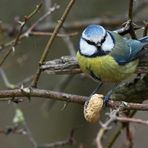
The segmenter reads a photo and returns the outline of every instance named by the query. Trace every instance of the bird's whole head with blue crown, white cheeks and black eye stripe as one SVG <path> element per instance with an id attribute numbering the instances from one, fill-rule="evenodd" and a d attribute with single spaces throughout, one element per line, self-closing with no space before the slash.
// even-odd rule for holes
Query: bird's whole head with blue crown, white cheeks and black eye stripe
<path id="1" fill-rule="evenodd" d="M 79 52 L 84 56 L 103 56 L 113 47 L 113 37 L 100 25 L 89 25 L 82 32 Z"/>

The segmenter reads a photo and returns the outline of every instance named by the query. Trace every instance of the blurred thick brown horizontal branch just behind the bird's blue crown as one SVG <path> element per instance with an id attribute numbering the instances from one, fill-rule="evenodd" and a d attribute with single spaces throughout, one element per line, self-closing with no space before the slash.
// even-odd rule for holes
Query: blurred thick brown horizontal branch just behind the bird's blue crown
<path id="1" fill-rule="evenodd" d="M 78 31 L 80 29 L 83 29 L 87 25 L 90 24 L 100 24 L 104 27 L 110 27 L 110 28 L 117 28 L 121 26 L 123 22 L 125 22 L 127 19 L 123 16 L 112 16 L 112 17 L 96 17 L 96 18 L 90 18 L 85 20 L 78 20 L 78 21 L 71 21 L 71 22 L 65 22 L 64 27 L 66 28 L 66 31 Z M 143 20 L 147 20 L 147 17 L 142 18 L 135 18 L 134 22 L 138 25 L 143 24 Z M 55 23 L 52 23 L 50 28 L 47 26 L 40 26 L 36 28 L 38 31 L 49 31 L 53 30 L 55 26 Z"/>

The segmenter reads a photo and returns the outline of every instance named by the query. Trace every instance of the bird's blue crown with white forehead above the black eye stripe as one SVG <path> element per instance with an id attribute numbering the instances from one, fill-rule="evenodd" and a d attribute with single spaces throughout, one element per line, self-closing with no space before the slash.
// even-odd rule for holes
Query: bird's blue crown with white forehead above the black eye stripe
<path id="1" fill-rule="evenodd" d="M 105 35 L 106 30 L 102 26 L 96 24 L 87 26 L 82 33 L 83 38 L 87 40 L 92 40 L 96 44 L 98 42 L 101 42 Z"/>

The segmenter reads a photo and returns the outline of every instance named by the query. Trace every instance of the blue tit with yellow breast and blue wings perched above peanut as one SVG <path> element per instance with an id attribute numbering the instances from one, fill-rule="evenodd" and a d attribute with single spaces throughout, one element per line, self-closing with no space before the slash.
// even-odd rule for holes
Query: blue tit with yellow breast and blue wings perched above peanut
<path id="1" fill-rule="evenodd" d="M 96 81 L 119 84 L 135 73 L 148 36 L 127 39 L 97 24 L 88 25 L 81 34 L 76 54 L 80 69 Z M 108 102 L 108 97 L 104 98 Z"/>

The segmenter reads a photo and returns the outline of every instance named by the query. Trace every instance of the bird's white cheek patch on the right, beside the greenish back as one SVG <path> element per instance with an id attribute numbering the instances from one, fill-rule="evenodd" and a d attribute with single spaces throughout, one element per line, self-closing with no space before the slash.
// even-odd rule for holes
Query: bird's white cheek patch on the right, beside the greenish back
<path id="1" fill-rule="evenodd" d="M 113 42 L 111 36 L 109 34 L 107 34 L 107 37 L 106 37 L 104 43 L 102 44 L 102 49 L 104 51 L 111 51 L 113 47 L 114 47 L 114 42 Z"/>

